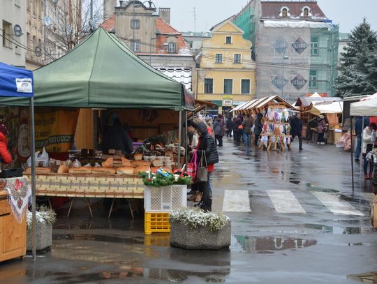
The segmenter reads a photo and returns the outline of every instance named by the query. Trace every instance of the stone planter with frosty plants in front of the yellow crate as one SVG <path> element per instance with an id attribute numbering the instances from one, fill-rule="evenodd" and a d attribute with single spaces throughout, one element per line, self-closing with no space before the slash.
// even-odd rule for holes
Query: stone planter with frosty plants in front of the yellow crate
<path id="1" fill-rule="evenodd" d="M 182 208 L 170 214 L 170 246 L 217 250 L 230 246 L 230 218 L 221 213 Z"/>

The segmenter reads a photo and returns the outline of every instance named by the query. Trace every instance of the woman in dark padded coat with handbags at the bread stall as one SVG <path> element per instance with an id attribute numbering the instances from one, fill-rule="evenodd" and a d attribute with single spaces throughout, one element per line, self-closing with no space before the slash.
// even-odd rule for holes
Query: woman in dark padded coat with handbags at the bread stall
<path id="1" fill-rule="evenodd" d="M 204 151 L 207 160 L 209 179 L 211 173 L 214 171 L 214 164 L 219 162 L 219 154 L 217 153 L 216 143 L 214 142 L 214 138 L 208 134 L 207 125 L 205 123 L 200 122 L 198 124 L 194 124 L 193 127 L 199 135 L 199 143 L 198 147 L 196 148 L 198 163 L 200 162 L 200 158 L 202 157 L 202 153 Z M 210 197 L 208 184 L 209 181 L 194 181 L 192 186 L 193 191 L 199 191 L 202 193 L 202 201 L 198 205 L 200 206 L 200 209 L 205 211 L 212 210 L 212 199 Z"/>

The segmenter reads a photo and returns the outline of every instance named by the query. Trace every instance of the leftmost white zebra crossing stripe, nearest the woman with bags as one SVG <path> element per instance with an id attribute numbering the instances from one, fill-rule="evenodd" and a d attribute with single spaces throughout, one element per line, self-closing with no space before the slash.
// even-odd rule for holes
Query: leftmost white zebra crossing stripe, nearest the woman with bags
<path id="1" fill-rule="evenodd" d="M 249 190 L 225 190 L 223 212 L 251 212 Z"/>

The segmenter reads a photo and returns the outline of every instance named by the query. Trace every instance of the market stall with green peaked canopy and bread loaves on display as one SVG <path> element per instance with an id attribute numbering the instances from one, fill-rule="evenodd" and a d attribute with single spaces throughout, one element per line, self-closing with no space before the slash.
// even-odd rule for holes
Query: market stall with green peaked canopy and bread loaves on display
<path id="1" fill-rule="evenodd" d="M 112 181 L 115 184 L 123 185 L 128 183 L 124 179 L 129 177 L 133 179 L 135 185 L 139 185 L 140 180 L 135 181 L 138 178 L 138 172 L 145 171 L 149 167 L 151 169 L 161 167 L 165 162 L 170 162 L 171 158 L 176 158 L 177 167 L 180 167 L 181 157 L 184 154 L 184 151 L 180 151 L 182 149 L 182 120 L 185 111 L 193 110 L 192 96 L 185 91 L 182 84 L 171 80 L 138 59 L 113 34 L 98 28 L 64 57 L 34 71 L 34 77 L 36 82 L 35 105 L 37 107 L 75 107 L 77 109 L 89 109 L 90 111 L 95 109 L 96 114 L 111 109 L 118 113 L 119 118 L 122 115 L 127 117 L 132 116 L 135 112 L 141 112 L 140 115 L 149 118 L 149 120 L 153 117 L 154 111 L 167 112 L 171 114 L 170 127 L 173 127 L 173 129 L 169 129 L 174 132 L 174 140 L 177 142 L 172 145 L 154 144 L 154 150 L 161 154 L 159 156 L 161 158 L 154 156 L 153 160 L 151 158 L 141 160 L 143 155 L 138 155 L 138 158 L 136 156 L 125 158 L 122 153 L 117 151 L 98 155 L 96 151 L 98 149 L 90 151 L 91 147 L 87 147 L 89 148 L 86 149 L 87 151 L 81 151 L 84 150 L 81 149 L 78 151 L 80 154 L 77 152 L 72 154 L 79 155 L 74 156 L 75 158 L 91 158 L 87 167 L 84 167 L 84 163 L 77 169 L 71 167 L 71 165 L 66 165 L 68 167 L 63 167 L 63 170 L 59 171 L 59 163 L 62 166 L 64 161 L 56 159 L 57 162 L 59 160 L 56 167 L 44 165 L 44 167 L 37 168 L 37 195 L 48 194 L 51 196 L 54 192 L 57 192 L 53 196 L 91 197 L 94 196 L 92 194 L 94 190 L 96 193 L 101 192 L 103 197 L 114 197 Z M 24 100 L 7 99 L 1 100 L 0 103 L 3 105 L 25 105 L 26 102 Z M 144 120 L 147 121 L 147 119 Z M 86 121 L 86 124 L 83 124 L 82 127 L 96 128 L 97 120 L 94 120 L 94 123 L 93 120 Z M 146 123 L 145 128 L 148 128 L 148 126 L 149 124 Z M 158 128 L 160 134 L 164 129 L 166 128 Z M 152 128 L 152 131 L 154 130 L 156 129 Z M 149 134 L 152 135 L 153 132 L 149 132 Z M 68 142 L 71 145 L 73 144 L 73 136 L 65 135 L 63 137 L 66 141 L 71 139 Z M 87 137 L 87 140 L 92 143 L 96 138 Z M 93 146 L 96 147 L 96 145 Z M 138 146 L 145 147 L 146 145 L 142 145 L 142 142 L 140 142 Z M 142 150 L 140 154 L 145 152 L 144 149 L 140 149 Z M 87 154 L 84 154 L 85 152 Z M 167 156 L 165 156 L 166 152 L 168 152 Z M 174 154 L 176 154 L 175 157 L 173 157 Z M 93 163 L 95 158 L 103 158 L 103 163 L 98 163 L 99 167 L 96 167 Z M 134 160 L 138 163 L 134 163 Z M 95 174 L 96 178 L 94 180 L 89 179 L 88 174 Z M 58 177 L 67 177 L 66 184 L 58 186 L 59 194 L 56 184 L 56 181 L 59 180 Z M 98 184 L 100 179 L 104 181 L 99 183 L 102 186 L 94 189 L 94 184 Z M 118 190 L 125 190 L 126 193 L 121 196 L 127 198 L 142 197 L 142 187 L 133 186 L 134 184 L 128 183 L 132 186 L 126 186 L 126 189 L 119 186 Z M 48 192 L 46 188 L 50 188 Z"/>

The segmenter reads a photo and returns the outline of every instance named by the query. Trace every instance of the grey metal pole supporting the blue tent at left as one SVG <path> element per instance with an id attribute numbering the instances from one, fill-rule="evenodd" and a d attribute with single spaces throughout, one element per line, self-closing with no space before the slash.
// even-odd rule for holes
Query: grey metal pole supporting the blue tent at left
<path id="1" fill-rule="evenodd" d="M 32 260 L 36 260 L 36 144 L 34 134 L 34 98 L 30 98 L 30 142 L 31 142 L 31 211 L 32 211 L 32 225 L 31 225 L 31 247 L 32 247 Z"/>

